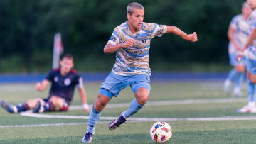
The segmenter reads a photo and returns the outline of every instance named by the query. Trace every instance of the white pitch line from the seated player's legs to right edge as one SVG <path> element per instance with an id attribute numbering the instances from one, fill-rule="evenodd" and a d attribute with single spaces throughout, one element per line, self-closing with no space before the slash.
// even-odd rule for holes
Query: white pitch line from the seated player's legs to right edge
<path id="1" fill-rule="evenodd" d="M 64 119 L 88 119 L 89 116 L 66 116 L 66 115 L 48 115 L 31 112 L 23 112 L 21 116 L 34 118 L 64 118 Z M 100 120 L 114 120 L 116 117 L 101 117 Z M 128 118 L 129 121 L 241 121 L 256 120 L 256 116 L 222 116 L 211 118 Z"/>

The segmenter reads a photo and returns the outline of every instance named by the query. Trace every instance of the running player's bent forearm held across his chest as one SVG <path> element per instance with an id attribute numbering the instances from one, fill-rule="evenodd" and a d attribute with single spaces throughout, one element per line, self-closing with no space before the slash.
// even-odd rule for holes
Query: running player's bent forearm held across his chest
<path id="1" fill-rule="evenodd" d="M 107 45 L 105 45 L 103 51 L 104 51 L 104 53 L 114 53 L 117 50 L 119 50 L 120 48 L 132 47 L 134 45 L 134 43 L 135 43 L 134 39 L 128 39 L 124 43 L 119 43 L 119 44 L 116 44 L 116 45 L 107 44 Z"/>

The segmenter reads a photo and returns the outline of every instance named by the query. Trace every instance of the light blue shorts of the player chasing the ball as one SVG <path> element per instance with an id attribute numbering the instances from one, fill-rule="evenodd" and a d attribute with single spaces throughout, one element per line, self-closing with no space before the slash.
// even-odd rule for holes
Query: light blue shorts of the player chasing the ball
<path id="1" fill-rule="evenodd" d="M 108 96 L 110 98 L 113 96 L 117 97 L 119 92 L 128 85 L 130 85 L 134 94 L 137 92 L 137 89 L 142 87 L 149 89 L 150 91 L 151 87 L 149 82 L 150 77 L 146 74 L 122 76 L 110 72 L 105 81 L 102 83 L 99 94 Z"/>

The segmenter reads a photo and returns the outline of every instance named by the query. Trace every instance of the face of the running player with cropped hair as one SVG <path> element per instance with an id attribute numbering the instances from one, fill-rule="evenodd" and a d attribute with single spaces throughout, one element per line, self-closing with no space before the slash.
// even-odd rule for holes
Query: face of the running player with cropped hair
<path id="1" fill-rule="evenodd" d="M 142 22 L 144 19 L 144 10 L 143 9 L 134 9 L 132 14 L 127 14 L 127 19 L 129 23 L 134 28 L 141 28 Z"/>

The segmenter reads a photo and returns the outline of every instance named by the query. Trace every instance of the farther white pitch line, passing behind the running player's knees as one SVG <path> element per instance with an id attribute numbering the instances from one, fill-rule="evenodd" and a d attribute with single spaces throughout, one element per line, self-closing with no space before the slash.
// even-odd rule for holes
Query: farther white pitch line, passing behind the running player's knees
<path id="1" fill-rule="evenodd" d="M 227 98 L 227 99 L 185 99 L 173 101 L 147 101 L 146 106 L 169 106 L 169 105 L 182 105 L 182 104 L 213 104 L 213 103 L 233 103 L 245 102 L 246 98 Z M 130 103 L 121 104 L 107 104 L 106 108 L 122 108 L 129 107 Z M 92 105 L 90 105 L 92 107 Z M 80 110 L 82 106 L 70 106 L 68 110 Z"/>

